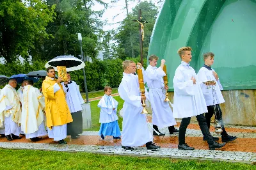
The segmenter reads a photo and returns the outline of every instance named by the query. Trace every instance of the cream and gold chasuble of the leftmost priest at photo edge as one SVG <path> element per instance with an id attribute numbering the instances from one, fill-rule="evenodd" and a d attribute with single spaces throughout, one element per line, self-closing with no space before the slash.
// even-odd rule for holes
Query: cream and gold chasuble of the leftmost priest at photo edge
<path id="1" fill-rule="evenodd" d="M 4 116 L 12 116 L 12 121 L 20 123 L 21 110 L 17 91 L 9 84 L 4 86 L 0 95 L 0 127 L 3 126 Z"/>

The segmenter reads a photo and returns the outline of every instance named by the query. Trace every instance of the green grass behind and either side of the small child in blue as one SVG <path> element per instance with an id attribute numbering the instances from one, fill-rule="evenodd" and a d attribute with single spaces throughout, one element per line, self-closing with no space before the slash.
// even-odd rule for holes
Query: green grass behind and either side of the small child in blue
<path id="1" fill-rule="evenodd" d="M 119 115 L 119 111 L 120 109 L 122 109 L 123 104 L 124 104 L 124 100 L 122 100 L 122 98 L 118 97 L 114 97 L 115 100 L 118 102 L 118 106 L 117 106 L 117 116 L 118 116 L 118 125 L 120 127 L 120 130 L 122 130 L 122 121 L 123 118 L 120 117 Z M 91 102 L 91 116 L 92 116 L 92 128 L 88 128 L 86 129 L 86 131 L 97 131 L 100 130 L 100 123 L 99 123 L 99 119 L 100 119 L 100 108 L 97 107 L 99 103 L 99 100 L 95 100 Z"/>

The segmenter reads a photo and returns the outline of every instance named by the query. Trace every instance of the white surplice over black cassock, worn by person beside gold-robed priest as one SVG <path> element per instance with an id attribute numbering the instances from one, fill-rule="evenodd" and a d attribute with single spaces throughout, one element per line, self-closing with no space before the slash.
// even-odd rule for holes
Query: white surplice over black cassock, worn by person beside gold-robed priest
<path id="1" fill-rule="evenodd" d="M 68 82 L 67 84 L 68 90 L 65 87 L 64 82 L 61 83 L 61 85 L 63 86 L 63 90 L 65 91 L 65 97 L 68 104 L 68 108 L 70 112 L 82 111 L 83 108 L 81 104 L 84 103 L 83 97 L 80 94 L 76 82 L 70 82 Z"/>

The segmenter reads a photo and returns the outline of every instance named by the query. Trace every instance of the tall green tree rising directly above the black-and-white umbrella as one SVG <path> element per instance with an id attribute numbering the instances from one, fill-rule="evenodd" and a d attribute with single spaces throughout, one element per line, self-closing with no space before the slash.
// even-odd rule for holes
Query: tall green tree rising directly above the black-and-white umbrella
<path id="1" fill-rule="evenodd" d="M 100 1 L 101 2 L 101 1 Z M 87 0 L 47 0 L 50 6 L 56 4 L 56 20 L 47 26 L 47 32 L 54 38 L 37 42 L 38 49 L 33 56 L 49 60 L 56 56 L 70 54 L 79 58 L 81 54 L 77 33 L 83 36 L 84 56 L 97 56 L 98 36 L 102 22 L 97 19 L 102 12 L 93 12 L 92 1 Z"/>

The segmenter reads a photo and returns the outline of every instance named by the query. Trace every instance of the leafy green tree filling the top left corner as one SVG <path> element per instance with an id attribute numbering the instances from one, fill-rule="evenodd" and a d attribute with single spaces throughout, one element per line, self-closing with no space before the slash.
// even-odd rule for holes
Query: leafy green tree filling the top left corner
<path id="1" fill-rule="evenodd" d="M 35 40 L 51 37 L 45 27 L 53 21 L 54 8 L 40 0 L 1 0 L 0 57 L 7 63 L 19 55 L 28 58 Z"/>

